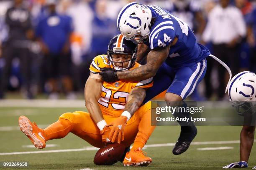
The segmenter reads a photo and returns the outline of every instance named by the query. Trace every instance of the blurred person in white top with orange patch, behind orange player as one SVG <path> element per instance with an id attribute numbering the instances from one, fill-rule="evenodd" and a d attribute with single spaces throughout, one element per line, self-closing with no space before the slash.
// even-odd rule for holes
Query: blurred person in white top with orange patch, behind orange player
<path id="1" fill-rule="evenodd" d="M 89 4 L 90 0 L 65 0 L 66 11 L 73 19 L 74 32 L 71 38 L 72 61 L 74 88 L 79 91 L 84 90 L 84 83 L 87 80 L 84 74 L 81 74 L 83 68 L 82 56 L 90 51 L 92 41 L 92 20 L 93 11 Z M 83 16 L 83 17 L 81 17 Z M 86 74 L 88 74 L 87 70 Z"/>

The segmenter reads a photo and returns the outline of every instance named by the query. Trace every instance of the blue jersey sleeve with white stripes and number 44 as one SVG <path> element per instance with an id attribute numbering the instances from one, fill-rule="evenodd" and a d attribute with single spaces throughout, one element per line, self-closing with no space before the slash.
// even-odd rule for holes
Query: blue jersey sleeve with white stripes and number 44
<path id="1" fill-rule="evenodd" d="M 156 50 L 172 44 L 175 38 L 174 28 L 171 24 L 153 29 L 149 35 L 150 49 Z"/>

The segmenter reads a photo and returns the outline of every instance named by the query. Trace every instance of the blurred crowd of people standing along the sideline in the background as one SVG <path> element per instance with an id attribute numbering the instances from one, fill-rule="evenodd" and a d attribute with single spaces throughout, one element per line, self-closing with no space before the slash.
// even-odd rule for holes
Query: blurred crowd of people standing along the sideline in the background
<path id="1" fill-rule="evenodd" d="M 96 55 L 117 35 L 120 9 L 134 0 L 0 0 L 0 99 L 83 95 Z M 233 75 L 256 72 L 256 1 L 137 0 L 184 20 Z M 224 67 L 207 60 L 192 100 L 225 100 Z"/>

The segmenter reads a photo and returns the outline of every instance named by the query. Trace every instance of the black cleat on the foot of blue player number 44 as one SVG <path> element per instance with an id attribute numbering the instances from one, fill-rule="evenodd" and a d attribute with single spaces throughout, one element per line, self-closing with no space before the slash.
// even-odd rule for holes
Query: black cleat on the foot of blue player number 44
<path id="1" fill-rule="evenodd" d="M 179 139 L 172 150 L 172 153 L 174 155 L 180 155 L 180 154 L 186 152 L 186 150 L 190 146 L 190 143 L 197 135 L 197 128 L 195 127 L 195 125 L 190 126 L 190 127 L 187 126 L 186 128 L 189 128 L 189 129 L 187 129 L 186 132 L 181 131 L 181 133 L 179 135 Z"/>

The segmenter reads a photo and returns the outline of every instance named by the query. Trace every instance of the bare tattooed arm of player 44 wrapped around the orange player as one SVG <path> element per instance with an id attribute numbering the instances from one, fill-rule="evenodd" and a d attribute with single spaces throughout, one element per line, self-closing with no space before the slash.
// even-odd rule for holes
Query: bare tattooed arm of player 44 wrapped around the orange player
<path id="1" fill-rule="evenodd" d="M 159 50 L 151 50 L 148 53 L 146 65 L 142 65 L 133 70 L 117 72 L 118 79 L 140 81 L 154 77 L 161 64 L 168 57 L 170 46 L 171 45 L 168 45 Z"/>

